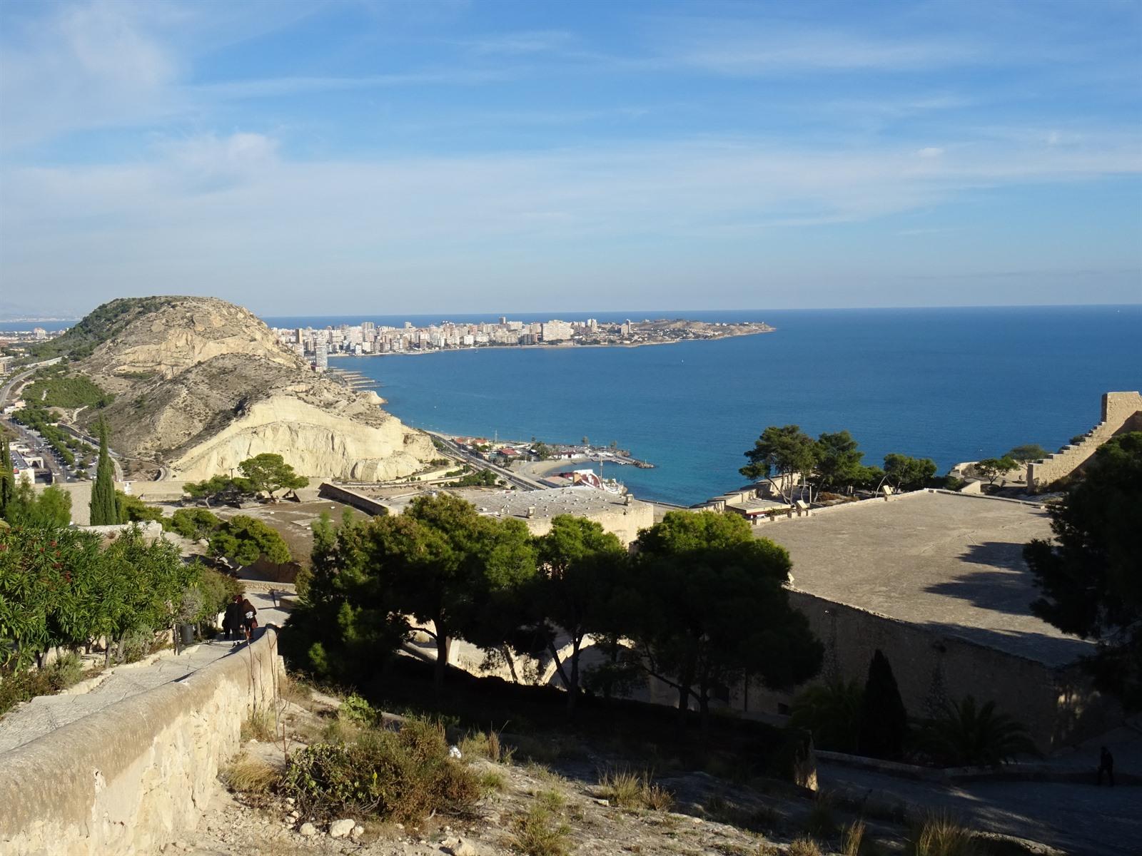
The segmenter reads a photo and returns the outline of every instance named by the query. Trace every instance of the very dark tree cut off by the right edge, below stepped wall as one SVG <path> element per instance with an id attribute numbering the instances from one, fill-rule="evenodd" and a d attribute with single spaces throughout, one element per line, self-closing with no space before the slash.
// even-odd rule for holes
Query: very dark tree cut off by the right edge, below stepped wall
<path id="1" fill-rule="evenodd" d="M 1142 709 L 1142 431 L 1113 437 L 1051 509 L 1049 541 L 1023 557 L 1043 591 L 1031 611 L 1097 643 L 1096 684 Z"/>

